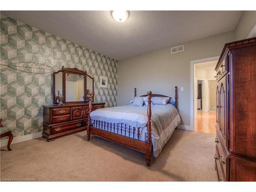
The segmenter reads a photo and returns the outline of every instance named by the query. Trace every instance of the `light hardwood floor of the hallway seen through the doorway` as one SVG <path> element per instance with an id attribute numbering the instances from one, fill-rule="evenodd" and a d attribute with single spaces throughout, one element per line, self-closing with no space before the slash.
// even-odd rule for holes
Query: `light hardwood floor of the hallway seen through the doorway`
<path id="1" fill-rule="evenodd" d="M 209 112 L 197 111 L 195 115 L 194 131 L 216 134 L 216 111 L 210 110 Z"/>

